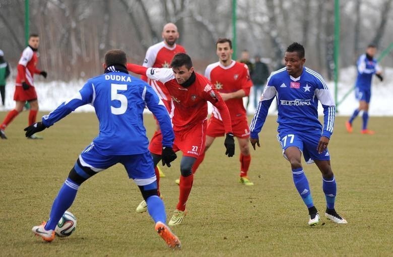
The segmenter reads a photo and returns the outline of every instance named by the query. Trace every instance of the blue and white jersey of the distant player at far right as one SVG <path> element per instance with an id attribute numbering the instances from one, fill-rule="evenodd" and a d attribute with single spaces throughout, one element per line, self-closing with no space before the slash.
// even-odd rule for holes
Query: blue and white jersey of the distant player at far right
<path id="1" fill-rule="evenodd" d="M 360 55 L 357 63 L 358 77 L 356 87 L 360 90 L 370 90 L 372 75 L 380 71 L 376 59 L 368 59 L 366 54 Z"/>

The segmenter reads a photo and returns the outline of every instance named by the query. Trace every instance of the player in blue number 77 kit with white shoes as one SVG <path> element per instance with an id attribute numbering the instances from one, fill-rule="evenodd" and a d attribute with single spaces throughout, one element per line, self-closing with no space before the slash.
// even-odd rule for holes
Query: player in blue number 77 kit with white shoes
<path id="1" fill-rule="evenodd" d="M 346 224 L 335 210 L 336 179 L 330 165 L 328 144 L 333 133 L 335 103 L 328 86 L 316 72 L 303 67 L 304 48 L 292 43 L 285 52 L 285 65 L 273 72 L 261 96 L 250 124 L 251 145 L 259 147 L 258 133 L 265 123 L 269 107 L 275 97 L 278 103 L 278 140 L 283 156 L 291 163 L 293 181 L 308 208 L 308 225 L 319 222 L 319 214 L 311 197 L 310 186 L 301 164 L 301 155 L 307 163 L 315 162 L 322 173 L 322 189 L 326 198 L 326 218 Z M 318 100 L 323 106 L 324 126 L 318 121 Z"/>

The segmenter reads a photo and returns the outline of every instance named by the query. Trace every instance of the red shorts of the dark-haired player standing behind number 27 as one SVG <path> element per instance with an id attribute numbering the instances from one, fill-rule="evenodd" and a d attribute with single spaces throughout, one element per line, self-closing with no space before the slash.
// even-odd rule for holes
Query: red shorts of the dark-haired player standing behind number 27
<path id="1" fill-rule="evenodd" d="M 249 138 L 250 130 L 247 119 L 232 120 L 232 132 L 236 138 Z M 224 122 L 212 116 L 209 119 L 206 135 L 213 138 L 225 136 Z"/>

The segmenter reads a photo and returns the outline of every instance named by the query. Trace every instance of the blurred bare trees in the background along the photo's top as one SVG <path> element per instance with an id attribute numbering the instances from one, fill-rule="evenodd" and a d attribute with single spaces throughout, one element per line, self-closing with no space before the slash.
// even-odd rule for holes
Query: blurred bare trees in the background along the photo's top
<path id="1" fill-rule="evenodd" d="M 393 42 L 393 0 L 340 1 L 340 67 L 354 65 L 373 42 Z M 333 79 L 334 0 L 237 0 L 237 49 L 281 65 L 287 45 L 306 48 L 306 65 Z M 16 67 L 24 39 L 24 0 L 0 0 L 0 49 Z M 142 63 L 161 41 L 167 22 L 177 25 L 198 71 L 217 60 L 215 41 L 232 38 L 232 0 L 30 0 L 30 32 L 40 35 L 40 64 L 51 80 L 89 78 L 102 72 L 108 49 L 125 50 Z M 239 56 L 239 55 L 238 55 Z M 393 66 L 391 58 L 385 66 Z M 234 57 L 235 58 L 235 57 Z"/>

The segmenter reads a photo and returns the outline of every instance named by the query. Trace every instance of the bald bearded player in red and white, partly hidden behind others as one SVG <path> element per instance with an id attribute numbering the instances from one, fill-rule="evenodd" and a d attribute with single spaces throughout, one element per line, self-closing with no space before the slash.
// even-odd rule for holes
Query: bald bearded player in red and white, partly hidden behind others
<path id="1" fill-rule="evenodd" d="M 173 56 L 178 52 L 185 52 L 183 46 L 176 44 L 177 39 L 179 38 L 179 32 L 177 31 L 177 27 L 173 23 L 167 23 L 162 28 L 161 33 L 163 41 L 154 44 L 148 48 L 146 51 L 145 60 L 143 62 L 143 67 L 146 68 L 169 68 L 169 65 L 172 61 Z M 171 96 L 164 86 L 159 81 L 151 80 L 146 75 L 142 75 L 141 79 L 149 83 L 150 86 L 153 87 L 154 91 L 156 91 L 158 97 L 162 100 L 167 108 L 168 112 L 170 112 L 171 108 Z M 160 131 L 160 127 L 157 125 L 157 129 L 155 135 Z M 159 181 L 160 177 L 165 177 L 164 172 L 156 166 L 156 175 L 157 180 Z M 159 175 L 158 175 L 159 174 Z M 141 212 L 140 209 L 137 209 L 137 212 Z"/>

